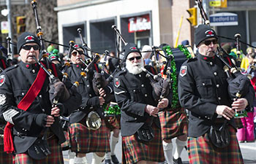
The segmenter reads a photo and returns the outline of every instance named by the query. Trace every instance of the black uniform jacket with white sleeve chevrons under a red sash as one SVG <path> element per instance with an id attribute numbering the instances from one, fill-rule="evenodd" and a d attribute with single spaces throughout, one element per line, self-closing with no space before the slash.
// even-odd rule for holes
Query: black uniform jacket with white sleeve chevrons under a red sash
<path id="1" fill-rule="evenodd" d="M 52 68 L 53 69 L 53 68 Z M 50 115 L 52 105 L 49 99 L 49 79 L 45 78 L 37 97 L 34 99 L 29 109 L 23 111 L 18 109 L 18 104 L 26 95 L 29 88 L 37 77 L 39 65 L 20 62 L 18 65 L 5 69 L 0 75 L 0 117 L 14 124 L 12 136 L 14 138 L 15 152 L 26 152 L 34 143 L 43 128 L 36 124 L 35 120 L 38 114 Z M 56 68 L 53 69 L 59 77 L 61 74 Z M 67 88 L 72 84 L 67 82 Z M 62 106 L 61 113 L 69 115 L 75 106 L 80 105 L 81 97 L 77 92 L 72 92 L 70 98 L 65 102 L 60 102 Z M 50 130 L 59 138 L 59 144 L 65 141 L 64 133 L 59 122 L 54 122 Z"/>

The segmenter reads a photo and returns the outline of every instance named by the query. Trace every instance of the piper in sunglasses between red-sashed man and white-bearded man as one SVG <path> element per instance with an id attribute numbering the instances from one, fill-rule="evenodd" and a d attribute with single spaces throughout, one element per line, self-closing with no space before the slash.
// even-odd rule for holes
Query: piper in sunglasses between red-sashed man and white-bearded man
<path id="1" fill-rule="evenodd" d="M 85 54 L 83 48 L 75 44 L 71 55 L 71 66 L 67 69 L 67 74 L 72 82 L 78 81 L 80 73 L 86 71 L 89 63 L 85 62 Z M 105 121 L 100 117 L 102 124 L 98 128 L 91 128 L 86 122 L 92 112 L 97 112 L 102 116 L 101 106 L 107 103 L 107 97 L 110 97 L 113 89 L 110 85 L 101 86 L 99 90 L 94 90 L 93 80 L 95 74 L 99 74 L 101 70 L 94 63 L 86 72 L 78 86 L 78 92 L 82 95 L 82 104 L 69 116 L 69 134 L 71 151 L 69 151 L 69 163 L 86 164 L 86 154 L 93 152 L 91 164 L 99 164 L 104 160 L 105 153 L 110 152 L 110 144 L 108 138 L 108 128 Z M 102 78 L 105 78 L 104 76 Z M 97 91 L 97 92 L 96 92 Z"/>

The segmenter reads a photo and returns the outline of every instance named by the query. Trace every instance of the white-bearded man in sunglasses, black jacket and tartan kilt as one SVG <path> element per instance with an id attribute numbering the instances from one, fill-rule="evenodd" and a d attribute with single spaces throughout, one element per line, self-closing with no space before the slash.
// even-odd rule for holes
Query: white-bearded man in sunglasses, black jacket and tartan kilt
<path id="1" fill-rule="evenodd" d="M 162 149 L 159 109 L 169 104 L 167 98 L 156 101 L 150 79 L 135 44 L 124 47 L 125 69 L 114 77 L 116 102 L 121 109 L 122 163 L 158 163 L 165 160 Z M 153 67 L 145 69 L 155 73 Z M 141 136 L 142 135 L 142 136 Z"/>

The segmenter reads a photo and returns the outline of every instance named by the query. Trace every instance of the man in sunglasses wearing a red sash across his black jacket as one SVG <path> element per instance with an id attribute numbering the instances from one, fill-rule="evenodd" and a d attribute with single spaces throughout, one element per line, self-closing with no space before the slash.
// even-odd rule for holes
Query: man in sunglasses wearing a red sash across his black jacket
<path id="1" fill-rule="evenodd" d="M 20 63 L 0 75 L 0 118 L 8 122 L 4 130 L 4 151 L 14 155 L 13 163 L 64 163 L 61 143 L 65 137 L 56 119 L 78 108 L 81 96 L 67 90 L 72 87 L 71 82 L 58 82 L 67 91 L 67 97 L 60 95 L 59 103 L 53 106 L 50 79 L 37 63 L 39 39 L 25 32 L 18 37 L 17 48 Z M 53 63 L 49 65 L 56 79 L 62 79 L 59 69 Z M 54 84 L 56 88 L 57 83 Z M 47 144 L 35 146 L 45 133 L 49 149 Z M 50 155 L 43 151 L 45 149 L 50 150 Z"/>

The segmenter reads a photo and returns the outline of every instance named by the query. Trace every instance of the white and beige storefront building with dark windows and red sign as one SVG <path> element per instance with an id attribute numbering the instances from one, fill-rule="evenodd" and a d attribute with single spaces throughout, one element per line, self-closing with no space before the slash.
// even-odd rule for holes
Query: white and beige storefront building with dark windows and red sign
<path id="1" fill-rule="evenodd" d="M 181 16 L 189 17 L 189 1 L 183 0 L 59 0 L 59 42 L 80 43 L 77 29 L 81 28 L 85 42 L 95 52 L 116 50 L 116 25 L 126 42 L 173 46 L 178 37 Z M 191 26 L 182 21 L 179 41 L 191 40 Z M 179 42 L 179 43 L 180 43 Z"/>

